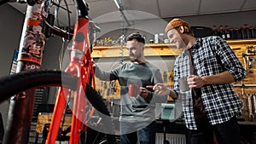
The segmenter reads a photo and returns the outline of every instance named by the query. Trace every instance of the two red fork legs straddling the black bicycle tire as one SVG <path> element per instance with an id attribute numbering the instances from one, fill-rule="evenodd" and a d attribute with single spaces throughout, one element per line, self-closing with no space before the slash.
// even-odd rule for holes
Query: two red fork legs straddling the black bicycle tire
<path id="1" fill-rule="evenodd" d="M 71 133 L 70 133 L 70 144 L 78 144 L 79 143 L 79 136 L 80 130 L 82 127 L 82 119 L 85 117 L 85 106 L 87 101 L 84 97 L 83 84 L 78 82 L 79 89 L 74 93 L 73 96 L 73 115 L 72 115 L 72 125 L 71 125 Z M 55 140 L 59 133 L 61 119 L 63 110 L 65 110 L 66 102 L 66 95 L 70 95 L 70 91 L 66 88 L 60 88 L 58 91 L 58 95 L 55 101 L 55 108 L 52 114 L 51 123 L 49 126 L 49 133 L 47 135 L 46 144 L 55 144 Z M 72 97 L 71 96 L 71 97 Z"/>

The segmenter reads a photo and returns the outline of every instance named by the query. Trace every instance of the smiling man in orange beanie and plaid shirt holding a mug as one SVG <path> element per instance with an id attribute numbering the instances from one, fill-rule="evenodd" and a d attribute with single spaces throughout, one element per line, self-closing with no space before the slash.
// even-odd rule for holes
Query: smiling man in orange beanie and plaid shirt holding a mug
<path id="1" fill-rule="evenodd" d="M 156 84 L 158 95 L 183 100 L 183 113 L 192 144 L 239 144 L 240 130 L 236 117 L 241 115 L 239 101 L 232 83 L 246 77 L 230 46 L 218 36 L 195 38 L 189 23 L 173 19 L 166 26 L 170 43 L 183 53 L 174 64 L 174 89 Z M 179 80 L 185 78 L 185 83 Z M 183 89 L 182 87 L 186 87 Z"/>

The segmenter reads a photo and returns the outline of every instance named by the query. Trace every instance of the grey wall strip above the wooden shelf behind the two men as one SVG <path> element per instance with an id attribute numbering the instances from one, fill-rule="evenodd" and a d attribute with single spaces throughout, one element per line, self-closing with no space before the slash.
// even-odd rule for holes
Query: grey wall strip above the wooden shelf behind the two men
<path id="1" fill-rule="evenodd" d="M 207 26 L 212 28 L 213 25 L 228 25 L 230 27 L 241 27 L 244 24 L 248 26 L 256 26 L 256 10 L 240 12 L 240 13 L 227 13 L 227 14 L 206 14 L 206 15 L 196 15 L 196 16 L 185 16 L 179 17 L 183 20 L 189 22 L 190 26 Z M 121 34 L 122 27 L 128 28 L 126 35 L 132 32 L 143 31 L 143 35 L 146 35 L 146 41 L 149 39 L 154 39 L 155 33 L 165 33 L 166 24 L 172 20 L 170 19 L 154 19 L 154 20 L 139 20 L 130 21 L 131 26 L 127 26 L 125 21 L 115 22 L 115 23 L 103 23 L 99 24 L 102 28 L 102 32 L 97 34 L 97 38 L 112 37 L 116 39 Z M 137 29 L 137 30 L 134 30 Z M 103 37 L 102 37 L 103 36 Z M 165 34 L 166 37 L 166 34 Z"/>

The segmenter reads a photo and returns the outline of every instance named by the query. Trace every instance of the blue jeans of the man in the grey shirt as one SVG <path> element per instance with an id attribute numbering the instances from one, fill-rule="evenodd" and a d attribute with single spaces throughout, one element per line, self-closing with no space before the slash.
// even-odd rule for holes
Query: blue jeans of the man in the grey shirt
<path id="1" fill-rule="evenodd" d="M 154 144 L 155 143 L 155 133 L 156 133 L 156 124 L 152 122 L 146 127 L 139 129 L 137 131 L 126 134 L 125 131 L 131 130 L 134 128 L 135 124 L 131 123 L 120 123 L 120 140 L 121 144 Z"/>

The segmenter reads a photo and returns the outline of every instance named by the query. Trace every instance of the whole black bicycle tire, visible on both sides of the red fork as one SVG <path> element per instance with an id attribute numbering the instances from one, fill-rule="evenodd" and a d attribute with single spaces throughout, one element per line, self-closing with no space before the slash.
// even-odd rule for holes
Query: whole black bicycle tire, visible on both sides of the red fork
<path id="1" fill-rule="evenodd" d="M 76 89 L 77 78 L 67 74 L 66 72 L 55 70 L 38 70 L 38 71 L 24 71 L 13 75 L 9 75 L 0 79 L 0 102 L 8 100 L 15 94 L 18 94 L 26 89 L 37 87 L 67 87 L 68 89 Z M 96 110 L 105 115 L 102 125 L 105 130 L 113 129 L 113 122 L 110 118 L 108 108 L 105 106 L 102 96 L 99 95 L 95 89 L 92 89 L 87 84 L 85 91 L 86 98 Z M 113 133 L 112 133 L 113 134 Z M 105 134 L 104 139 L 109 144 L 116 143 L 115 135 Z"/>

